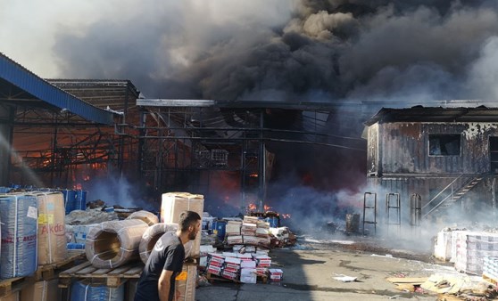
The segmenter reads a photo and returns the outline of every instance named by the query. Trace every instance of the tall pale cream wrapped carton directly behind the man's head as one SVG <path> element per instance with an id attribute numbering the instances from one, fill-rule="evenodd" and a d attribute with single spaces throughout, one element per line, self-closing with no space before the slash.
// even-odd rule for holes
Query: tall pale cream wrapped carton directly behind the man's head
<path id="1" fill-rule="evenodd" d="M 161 223 L 178 224 L 180 214 L 186 210 L 195 211 L 199 216 L 203 216 L 203 195 L 188 192 L 168 192 L 162 194 Z M 201 236 L 199 233 L 195 238 L 190 256 L 196 257 L 200 255 Z"/>

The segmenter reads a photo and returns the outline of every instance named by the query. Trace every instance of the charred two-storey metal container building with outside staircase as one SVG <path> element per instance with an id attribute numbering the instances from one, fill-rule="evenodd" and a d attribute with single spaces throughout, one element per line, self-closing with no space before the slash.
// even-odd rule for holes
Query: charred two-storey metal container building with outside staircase
<path id="1" fill-rule="evenodd" d="M 498 110 L 484 106 L 378 111 L 366 122 L 370 192 L 386 214 L 400 199 L 403 224 L 419 223 L 414 214 L 422 223 L 494 221 L 497 122 Z"/>

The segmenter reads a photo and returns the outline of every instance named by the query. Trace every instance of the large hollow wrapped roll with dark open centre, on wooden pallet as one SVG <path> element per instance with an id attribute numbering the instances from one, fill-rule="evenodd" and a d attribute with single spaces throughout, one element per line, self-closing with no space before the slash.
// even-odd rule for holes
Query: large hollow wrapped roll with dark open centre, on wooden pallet
<path id="1" fill-rule="evenodd" d="M 88 261 L 98 268 L 114 268 L 137 259 L 147 228 L 139 219 L 103 222 L 91 228 L 85 244 Z"/>

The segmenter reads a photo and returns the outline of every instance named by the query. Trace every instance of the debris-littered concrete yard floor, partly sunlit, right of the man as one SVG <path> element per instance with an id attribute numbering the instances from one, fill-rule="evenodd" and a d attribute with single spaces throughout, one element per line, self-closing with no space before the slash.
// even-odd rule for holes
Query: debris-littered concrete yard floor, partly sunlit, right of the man
<path id="1" fill-rule="evenodd" d="M 396 289 L 387 277 L 428 277 L 456 273 L 451 266 L 430 263 L 430 252 L 411 253 L 376 248 L 368 243 L 301 242 L 297 248 L 272 249 L 272 267 L 284 271 L 276 284 L 236 284 L 215 281 L 195 290 L 198 301 L 224 300 L 436 300 L 436 293 Z M 337 281 L 334 277 L 356 277 Z"/>

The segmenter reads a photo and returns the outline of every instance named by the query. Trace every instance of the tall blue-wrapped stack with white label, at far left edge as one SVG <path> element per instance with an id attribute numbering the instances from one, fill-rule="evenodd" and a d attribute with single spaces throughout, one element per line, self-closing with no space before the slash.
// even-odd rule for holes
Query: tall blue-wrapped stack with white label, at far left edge
<path id="1" fill-rule="evenodd" d="M 0 196 L 2 248 L 0 279 L 28 276 L 37 270 L 37 197 Z"/>

